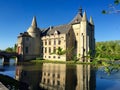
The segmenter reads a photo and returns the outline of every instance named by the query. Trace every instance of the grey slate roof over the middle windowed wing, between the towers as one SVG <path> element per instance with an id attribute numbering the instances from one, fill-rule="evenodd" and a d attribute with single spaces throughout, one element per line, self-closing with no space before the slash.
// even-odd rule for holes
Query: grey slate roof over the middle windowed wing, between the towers
<path id="1" fill-rule="evenodd" d="M 55 31 L 57 31 L 59 34 L 66 34 L 70 29 L 71 29 L 70 24 L 49 27 L 47 29 L 42 30 L 42 36 L 53 35 Z"/>

